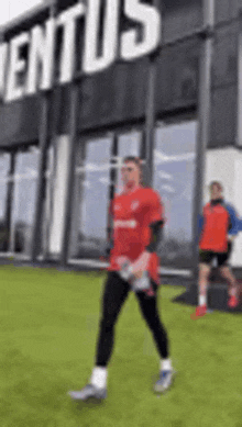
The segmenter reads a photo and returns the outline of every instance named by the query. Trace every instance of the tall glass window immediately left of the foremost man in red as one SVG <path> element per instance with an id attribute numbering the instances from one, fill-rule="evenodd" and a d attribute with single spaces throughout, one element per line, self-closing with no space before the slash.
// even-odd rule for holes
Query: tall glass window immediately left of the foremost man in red
<path id="1" fill-rule="evenodd" d="M 107 239 L 111 137 L 79 144 L 76 151 L 72 258 L 99 258 Z"/>

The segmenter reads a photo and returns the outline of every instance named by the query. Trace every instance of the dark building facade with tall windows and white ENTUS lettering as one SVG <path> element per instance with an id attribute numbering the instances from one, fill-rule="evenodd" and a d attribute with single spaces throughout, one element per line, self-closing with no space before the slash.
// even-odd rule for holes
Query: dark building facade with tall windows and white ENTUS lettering
<path id="1" fill-rule="evenodd" d="M 207 184 L 221 180 L 227 200 L 242 216 L 240 2 L 215 2 L 204 201 Z M 154 54 L 151 173 L 167 218 L 160 255 L 163 267 L 191 268 L 204 1 L 147 1 L 146 16 L 160 16 L 158 43 L 139 10 L 141 2 L 130 2 L 133 9 L 128 3 L 44 3 L 1 29 L 2 256 L 75 263 L 103 255 L 108 205 L 121 184 L 119 160 L 146 156 Z M 91 33 L 95 15 L 97 32 Z M 114 19 L 116 29 L 108 25 Z M 46 49 L 52 56 L 44 56 Z M 242 267 L 242 236 L 232 265 Z"/>

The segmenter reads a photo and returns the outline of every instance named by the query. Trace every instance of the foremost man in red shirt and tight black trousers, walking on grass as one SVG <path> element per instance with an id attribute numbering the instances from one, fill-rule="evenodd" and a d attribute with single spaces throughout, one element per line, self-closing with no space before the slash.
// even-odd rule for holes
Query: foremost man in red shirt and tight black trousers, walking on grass
<path id="1" fill-rule="evenodd" d="M 69 393 L 74 400 L 107 396 L 107 367 L 113 348 L 114 325 L 130 290 L 135 292 L 161 356 L 160 379 L 154 391 L 166 391 L 174 375 L 167 334 L 157 311 L 160 263 L 156 249 L 164 225 L 163 205 L 158 193 L 141 186 L 139 158 L 127 157 L 121 172 L 123 192 L 114 198 L 110 206 L 112 248 L 102 297 L 96 366 L 89 384 Z"/>

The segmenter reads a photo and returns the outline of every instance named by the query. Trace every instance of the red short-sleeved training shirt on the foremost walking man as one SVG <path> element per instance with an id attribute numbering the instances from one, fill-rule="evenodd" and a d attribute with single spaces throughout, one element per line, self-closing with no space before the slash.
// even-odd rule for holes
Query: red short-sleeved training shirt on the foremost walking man
<path id="1" fill-rule="evenodd" d="M 117 257 L 127 256 L 133 262 L 145 250 L 151 241 L 150 224 L 164 221 L 164 209 L 156 191 L 139 187 L 131 193 L 117 195 L 110 212 L 113 218 L 113 249 L 108 270 L 117 271 Z M 158 257 L 154 252 L 148 262 L 148 273 L 157 283 L 158 265 Z"/>

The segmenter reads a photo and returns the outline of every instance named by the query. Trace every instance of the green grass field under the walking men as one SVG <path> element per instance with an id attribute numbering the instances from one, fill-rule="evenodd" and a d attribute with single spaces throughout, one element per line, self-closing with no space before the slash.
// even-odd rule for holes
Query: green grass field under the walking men
<path id="1" fill-rule="evenodd" d="M 0 427 L 242 427 L 242 317 L 194 307 L 162 286 L 177 377 L 153 393 L 158 355 L 130 294 L 117 325 L 108 398 L 76 404 L 94 366 L 105 273 L 1 267 Z"/>

